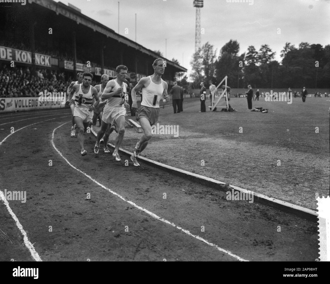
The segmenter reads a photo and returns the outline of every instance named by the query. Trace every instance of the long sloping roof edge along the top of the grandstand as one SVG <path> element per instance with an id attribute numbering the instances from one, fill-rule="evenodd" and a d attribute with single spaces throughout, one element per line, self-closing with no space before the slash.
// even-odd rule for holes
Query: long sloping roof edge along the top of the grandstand
<path id="1" fill-rule="evenodd" d="M 101 34 L 104 34 L 107 37 L 110 37 L 116 41 L 118 41 L 118 43 L 123 43 L 123 44 L 127 44 L 127 46 L 133 47 L 138 51 L 141 51 L 142 53 L 146 53 L 154 58 L 158 58 L 158 57 L 162 57 L 163 56 L 159 56 L 159 54 L 157 54 L 156 52 L 142 46 L 139 43 L 136 43 L 124 36 L 119 35 L 118 33 L 116 33 L 114 30 L 108 28 L 105 25 L 102 25 L 101 23 L 93 20 L 92 18 L 80 13 L 79 11 L 77 11 L 74 8 L 71 8 L 65 4 L 63 4 L 62 2 L 55 2 L 53 0 L 28 0 L 29 3 L 35 3 L 37 5 L 43 6 L 44 8 L 47 8 L 51 11 L 54 11 L 56 14 L 61 14 L 62 16 L 65 16 L 71 20 L 75 20 L 77 22 L 77 24 L 82 24 L 86 27 L 91 28 L 94 32 L 98 31 Z M 167 62 L 167 64 L 172 65 L 173 67 L 178 69 L 178 72 L 186 72 L 187 69 L 164 58 Z"/>

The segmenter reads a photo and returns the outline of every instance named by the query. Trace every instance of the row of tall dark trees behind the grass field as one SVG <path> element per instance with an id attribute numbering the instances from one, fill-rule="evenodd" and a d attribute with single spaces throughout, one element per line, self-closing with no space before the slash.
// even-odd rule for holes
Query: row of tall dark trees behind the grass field
<path id="1" fill-rule="evenodd" d="M 201 82 L 220 82 L 228 76 L 231 88 L 329 88 L 330 45 L 300 43 L 295 47 L 285 43 L 281 50 L 281 64 L 274 60 L 268 44 L 257 51 L 253 45 L 239 55 L 240 45 L 230 40 L 219 52 L 209 42 L 197 50 L 190 62 L 192 87 L 197 89 Z M 186 81 L 186 77 L 183 81 Z M 184 82 L 182 82 L 184 84 Z"/>

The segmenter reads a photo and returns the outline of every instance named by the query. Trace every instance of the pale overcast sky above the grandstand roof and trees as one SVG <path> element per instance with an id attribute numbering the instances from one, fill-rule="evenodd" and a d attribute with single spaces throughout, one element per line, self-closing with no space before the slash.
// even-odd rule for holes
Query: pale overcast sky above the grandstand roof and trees
<path id="1" fill-rule="evenodd" d="M 239 54 L 249 45 L 259 50 L 267 43 L 276 51 L 275 60 L 286 42 L 330 44 L 330 0 L 253 0 L 227 3 L 229 0 L 204 0 L 201 8 L 201 44 L 214 45 L 217 56 L 230 39 L 240 44 Z M 234 1 L 234 0 L 232 0 Z M 58 2 L 58 1 L 56 1 Z M 118 32 L 118 0 L 62 0 Z M 119 34 L 151 50 L 160 50 L 166 58 L 177 59 L 190 71 L 195 50 L 196 8 L 193 0 L 119 0 Z M 125 28 L 128 34 L 125 34 Z M 280 28 L 280 34 L 278 33 Z M 165 49 L 165 39 L 167 48 Z M 183 54 L 183 61 L 182 61 Z"/>

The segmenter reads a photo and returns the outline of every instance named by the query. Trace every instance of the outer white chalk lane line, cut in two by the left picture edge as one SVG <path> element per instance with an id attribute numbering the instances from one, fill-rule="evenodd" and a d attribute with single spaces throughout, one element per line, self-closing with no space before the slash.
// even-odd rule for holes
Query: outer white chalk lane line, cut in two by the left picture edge
<path id="1" fill-rule="evenodd" d="M 44 120 L 44 121 L 38 121 L 38 122 L 36 122 L 36 123 L 32 123 L 32 124 L 29 124 L 29 125 L 27 125 L 27 126 L 24 126 L 24 127 L 22 127 L 22 128 L 17 129 L 17 130 L 14 131 L 13 133 L 10 133 L 7 137 L 5 137 L 5 138 L 0 142 L 0 146 L 1 146 L 1 144 L 2 144 L 3 142 L 5 142 L 5 140 L 6 140 L 10 135 L 16 133 L 17 131 L 19 131 L 19 130 L 21 130 L 21 129 L 23 129 L 23 128 L 29 127 L 29 126 L 31 126 L 31 125 L 35 125 L 35 124 L 37 124 L 37 123 L 46 122 L 46 121 L 53 120 L 53 119 L 56 119 L 56 117 L 55 117 L 55 118 L 51 118 L 51 119 L 47 119 L 47 120 Z M 62 125 L 63 125 L 63 124 L 62 124 Z M 8 201 L 5 199 L 5 196 L 4 196 L 4 194 L 3 194 L 3 192 L 2 192 L 1 190 L 0 190 L 0 196 L 1 196 L 1 200 L 3 200 L 3 203 L 6 205 L 9 214 L 11 214 L 12 217 L 13 217 L 13 219 L 15 220 L 15 222 L 16 222 L 16 226 L 18 227 L 18 229 L 20 230 L 21 234 L 23 235 L 24 244 L 25 244 L 25 246 L 29 249 L 29 251 L 30 251 L 32 257 L 34 258 L 35 261 L 42 261 L 41 258 L 40 258 L 40 256 L 39 256 L 39 254 L 38 254 L 38 253 L 36 252 L 36 250 L 34 249 L 33 244 L 32 244 L 32 243 L 29 241 L 29 239 L 27 238 L 27 235 L 26 235 L 26 232 L 25 232 L 24 229 L 23 229 L 23 226 L 19 223 L 18 218 L 16 217 L 15 213 L 14 213 L 14 212 L 12 211 L 12 209 L 10 208 Z"/>

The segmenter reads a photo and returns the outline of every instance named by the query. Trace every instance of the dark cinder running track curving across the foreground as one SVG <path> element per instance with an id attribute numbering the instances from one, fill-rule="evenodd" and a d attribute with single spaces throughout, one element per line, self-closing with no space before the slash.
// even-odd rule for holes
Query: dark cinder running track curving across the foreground
<path id="1" fill-rule="evenodd" d="M 318 258 L 317 224 L 312 221 L 257 203 L 227 201 L 224 192 L 142 162 L 139 168 L 131 163 L 125 166 L 128 157 L 116 162 L 102 149 L 94 155 L 92 134 L 85 134 L 88 155 L 82 157 L 77 138 L 70 137 L 70 115 L 70 110 L 64 109 L 0 116 L 0 124 L 10 122 L 0 126 L 4 128 L 0 141 L 10 134 L 11 127 L 17 131 L 33 124 L 14 132 L 0 145 L 0 189 L 26 191 L 25 203 L 8 202 L 43 261 Z M 91 179 L 55 150 L 53 133 L 58 151 Z M 3 201 L 0 216 L 0 260 L 33 261 Z"/>

